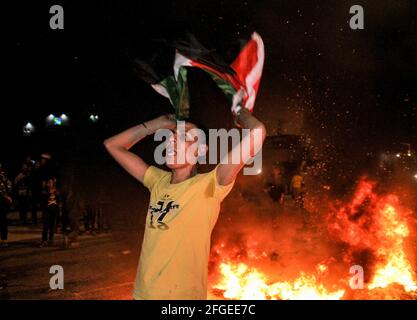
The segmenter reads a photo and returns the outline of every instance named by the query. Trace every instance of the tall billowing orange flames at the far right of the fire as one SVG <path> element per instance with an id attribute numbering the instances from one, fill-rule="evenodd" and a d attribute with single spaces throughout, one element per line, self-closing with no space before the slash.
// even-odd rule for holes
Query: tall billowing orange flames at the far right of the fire
<path id="1" fill-rule="evenodd" d="M 369 290 L 399 284 L 406 292 L 416 291 L 415 275 L 405 250 L 412 212 L 401 207 L 396 195 L 379 196 L 375 185 L 362 178 L 352 202 L 338 210 L 329 229 L 351 246 L 351 253 L 372 252 L 376 264 Z"/>

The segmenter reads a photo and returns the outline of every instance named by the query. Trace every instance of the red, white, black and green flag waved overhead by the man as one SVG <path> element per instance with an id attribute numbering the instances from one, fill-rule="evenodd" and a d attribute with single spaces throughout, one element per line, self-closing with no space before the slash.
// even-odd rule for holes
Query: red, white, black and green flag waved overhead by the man
<path id="1" fill-rule="evenodd" d="M 207 72 L 230 99 L 233 113 L 240 108 L 253 111 L 265 57 L 263 41 L 257 33 L 252 34 L 230 66 L 214 50 L 206 49 L 192 35 L 188 35 L 186 40 L 164 44 L 175 50 L 170 63 L 164 65 L 158 58 L 151 63 L 139 60 L 135 62 L 142 79 L 170 100 L 177 119 L 186 119 L 189 114 L 186 67 L 197 67 Z M 151 66 L 157 60 L 159 72 Z M 168 69 L 164 66 L 168 66 Z"/>

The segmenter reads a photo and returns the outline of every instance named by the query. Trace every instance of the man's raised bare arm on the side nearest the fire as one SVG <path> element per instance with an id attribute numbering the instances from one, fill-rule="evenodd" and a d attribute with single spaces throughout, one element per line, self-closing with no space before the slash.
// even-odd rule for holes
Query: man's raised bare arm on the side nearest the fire
<path id="1" fill-rule="evenodd" d="M 266 137 L 264 124 L 256 119 L 248 110 L 242 109 L 236 116 L 236 122 L 243 129 L 249 129 L 250 134 L 244 136 L 240 144 L 228 153 L 227 163 L 219 165 L 217 169 L 217 181 L 223 186 L 232 183 L 236 179 L 239 171 L 249 159 L 254 157 L 262 149 Z M 240 153 L 239 163 L 232 163 L 232 154 L 234 152 Z"/>

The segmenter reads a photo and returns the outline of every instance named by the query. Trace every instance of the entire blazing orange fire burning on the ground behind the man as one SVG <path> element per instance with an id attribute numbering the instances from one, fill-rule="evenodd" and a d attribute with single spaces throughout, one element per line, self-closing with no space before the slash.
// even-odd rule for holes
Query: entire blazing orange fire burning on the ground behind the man
<path id="1" fill-rule="evenodd" d="M 398 196 L 380 195 L 375 189 L 376 183 L 361 179 L 351 201 L 336 203 L 337 207 L 326 214 L 328 239 L 334 248 L 343 249 L 339 257 L 325 257 L 324 263 L 315 266 L 315 272 L 300 270 L 298 275 L 284 278 L 285 281 L 281 280 L 281 272 L 277 282 L 277 278 L 272 279 L 277 276 L 273 274 L 276 265 L 273 263 L 279 261 L 279 247 L 271 253 L 254 234 L 240 237 L 232 246 L 218 243 L 212 251 L 212 258 L 220 261 L 219 278 L 212 286 L 214 292 L 226 299 L 336 300 L 372 298 L 379 290 L 386 290 L 383 297 L 396 298 L 399 293 L 391 290 L 391 285 L 396 285 L 410 297 L 417 296 L 416 274 L 406 246 L 413 213 L 402 206 Z M 271 266 L 269 272 L 260 271 L 266 263 Z M 340 273 L 339 280 L 337 276 L 329 280 L 333 271 L 330 263 L 333 266 L 339 263 L 337 270 L 346 266 L 346 271 L 362 263 L 367 279 L 365 288 L 360 293 L 350 290 L 348 272 Z M 339 282 L 329 285 L 329 281 Z"/>

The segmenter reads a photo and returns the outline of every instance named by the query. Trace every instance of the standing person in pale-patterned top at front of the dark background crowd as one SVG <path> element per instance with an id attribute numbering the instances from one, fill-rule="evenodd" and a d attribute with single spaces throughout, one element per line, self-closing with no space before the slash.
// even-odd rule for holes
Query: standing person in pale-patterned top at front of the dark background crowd
<path id="1" fill-rule="evenodd" d="M 56 179 L 51 178 L 46 183 L 47 201 L 44 211 L 42 243 L 40 247 L 54 244 L 56 220 L 59 213 L 58 190 L 56 189 Z"/>

